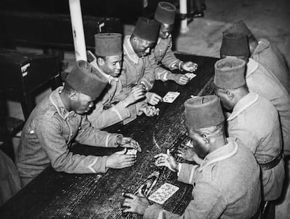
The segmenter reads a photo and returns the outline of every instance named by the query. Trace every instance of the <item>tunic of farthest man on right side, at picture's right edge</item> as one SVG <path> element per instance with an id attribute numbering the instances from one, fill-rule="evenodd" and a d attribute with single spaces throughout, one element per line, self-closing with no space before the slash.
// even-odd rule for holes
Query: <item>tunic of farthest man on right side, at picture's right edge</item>
<path id="1" fill-rule="evenodd" d="M 265 38 L 258 41 L 251 58 L 270 70 L 290 94 L 290 75 L 282 53 Z"/>

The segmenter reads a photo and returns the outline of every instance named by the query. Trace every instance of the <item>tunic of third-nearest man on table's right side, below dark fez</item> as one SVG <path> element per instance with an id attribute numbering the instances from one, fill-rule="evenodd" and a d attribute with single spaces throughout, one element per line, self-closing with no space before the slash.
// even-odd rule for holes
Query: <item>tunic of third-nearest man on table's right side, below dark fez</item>
<path id="1" fill-rule="evenodd" d="M 249 59 L 246 83 L 251 92 L 268 99 L 279 113 L 285 155 L 290 155 L 290 95 L 262 64 Z"/>

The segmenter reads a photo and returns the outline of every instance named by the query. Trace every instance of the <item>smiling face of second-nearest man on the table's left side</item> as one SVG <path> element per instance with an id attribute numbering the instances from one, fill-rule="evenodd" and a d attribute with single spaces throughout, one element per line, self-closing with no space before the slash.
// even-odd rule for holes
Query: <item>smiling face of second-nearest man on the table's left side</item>
<path id="1" fill-rule="evenodd" d="M 122 55 L 108 56 L 104 60 L 102 70 L 104 71 L 104 73 L 110 76 L 118 77 L 120 74 L 120 70 L 122 68 L 122 62 L 123 62 Z"/>

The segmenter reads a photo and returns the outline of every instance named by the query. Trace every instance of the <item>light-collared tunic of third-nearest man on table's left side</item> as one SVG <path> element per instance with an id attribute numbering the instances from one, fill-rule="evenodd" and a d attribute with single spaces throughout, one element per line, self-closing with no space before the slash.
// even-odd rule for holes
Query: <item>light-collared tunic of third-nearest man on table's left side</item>
<path id="1" fill-rule="evenodd" d="M 139 58 L 134 52 L 130 43 L 130 36 L 125 36 L 123 43 L 124 61 L 120 80 L 122 81 L 124 92 L 129 92 L 130 88 L 143 83 L 147 90 L 151 90 L 155 82 L 154 69 L 149 62 L 149 57 Z"/>

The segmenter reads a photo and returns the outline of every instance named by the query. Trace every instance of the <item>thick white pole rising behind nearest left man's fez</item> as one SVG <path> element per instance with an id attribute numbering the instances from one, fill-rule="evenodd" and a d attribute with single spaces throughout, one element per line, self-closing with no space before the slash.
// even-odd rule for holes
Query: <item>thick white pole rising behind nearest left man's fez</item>
<path id="1" fill-rule="evenodd" d="M 80 59 L 87 61 L 80 0 L 69 0 L 69 11 L 71 14 L 71 29 L 74 38 L 74 52 L 76 55 L 76 61 Z"/>

